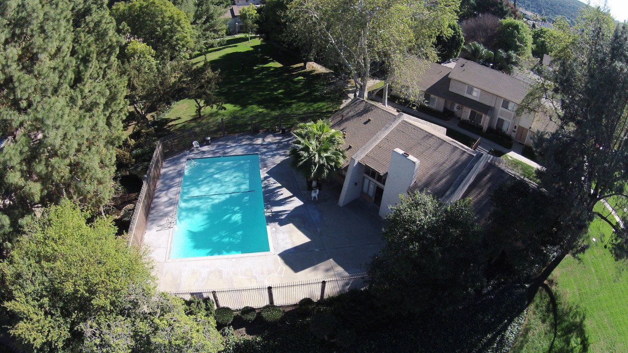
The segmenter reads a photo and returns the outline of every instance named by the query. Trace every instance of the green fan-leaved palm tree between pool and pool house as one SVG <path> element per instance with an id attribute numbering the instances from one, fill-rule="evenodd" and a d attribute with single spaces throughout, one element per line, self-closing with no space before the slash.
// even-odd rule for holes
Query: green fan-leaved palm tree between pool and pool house
<path id="1" fill-rule="evenodd" d="M 347 161 L 342 133 L 330 128 L 328 121 L 301 122 L 292 134 L 291 163 L 308 180 L 308 187 L 317 187 Z"/>

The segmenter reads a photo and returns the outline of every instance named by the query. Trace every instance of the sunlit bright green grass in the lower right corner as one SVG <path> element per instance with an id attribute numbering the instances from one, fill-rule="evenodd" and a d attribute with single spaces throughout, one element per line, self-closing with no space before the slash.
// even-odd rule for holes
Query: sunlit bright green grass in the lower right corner
<path id="1" fill-rule="evenodd" d="M 596 210 L 609 213 L 602 205 Z M 558 301 L 560 316 L 571 323 L 571 332 L 563 330 L 563 335 L 571 337 L 571 344 L 577 342 L 579 334 L 573 329 L 578 327 L 578 312 L 582 312 L 583 332 L 590 343 L 588 351 L 593 353 L 628 352 L 628 265 L 616 262 L 604 248 L 611 232 L 608 224 L 595 220 L 589 227 L 589 249 L 578 258 L 565 258 L 552 275 L 553 289 L 562 298 L 562 302 Z M 591 241 L 593 237 L 596 242 Z M 546 301 L 539 291 L 513 353 L 548 351 L 553 337 L 548 332 L 553 332 L 553 321 L 548 319 L 551 315 L 547 315 Z"/>

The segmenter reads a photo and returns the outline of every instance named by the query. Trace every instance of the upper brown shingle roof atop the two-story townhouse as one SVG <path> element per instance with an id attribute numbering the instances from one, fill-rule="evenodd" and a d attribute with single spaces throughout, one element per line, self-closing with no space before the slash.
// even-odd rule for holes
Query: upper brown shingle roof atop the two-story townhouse
<path id="1" fill-rule="evenodd" d="M 529 84 L 506 73 L 466 59 L 458 60 L 449 77 L 517 104 L 521 104 L 521 100 L 528 94 L 530 88 Z"/>

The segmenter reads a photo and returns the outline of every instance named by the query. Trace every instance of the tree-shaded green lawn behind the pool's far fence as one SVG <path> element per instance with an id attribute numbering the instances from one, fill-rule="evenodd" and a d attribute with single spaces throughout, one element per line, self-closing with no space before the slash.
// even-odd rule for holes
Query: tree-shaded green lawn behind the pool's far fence
<path id="1" fill-rule="evenodd" d="M 193 100 L 181 100 L 165 116 L 171 130 L 194 128 L 220 118 L 331 111 L 345 96 L 342 85 L 334 84 L 329 74 L 303 70 L 298 58 L 258 38 L 251 38 L 251 43 L 246 37 L 231 38 L 192 60 L 201 62 L 203 57 L 214 70 L 220 70 L 217 95 L 226 110 L 203 109 L 203 117 L 198 119 Z"/>

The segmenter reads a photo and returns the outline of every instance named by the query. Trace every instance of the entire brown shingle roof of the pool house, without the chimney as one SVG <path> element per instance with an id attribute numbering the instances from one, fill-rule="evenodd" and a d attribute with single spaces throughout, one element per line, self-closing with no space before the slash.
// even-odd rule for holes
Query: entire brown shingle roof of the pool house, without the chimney
<path id="1" fill-rule="evenodd" d="M 345 149 L 351 145 L 347 149 L 349 156 L 356 156 L 360 150 L 360 155 L 355 158 L 380 174 L 388 171 L 395 148 L 416 157 L 419 171 L 408 192 L 428 192 L 442 198 L 458 178 L 468 173 L 469 166 L 478 160 L 476 157 L 482 155 L 441 132 L 431 131 L 429 125 L 417 122 L 420 119 L 396 114 L 384 106 L 362 99 L 352 100 L 333 114 L 331 120 L 333 129 L 347 132 Z M 374 141 L 377 143 L 373 144 Z M 482 166 L 463 193 L 463 197 L 472 198 L 474 210 L 482 223 L 492 207 L 490 194 L 514 175 L 512 171 L 492 163 L 496 157 L 489 157 L 489 163 Z"/>

